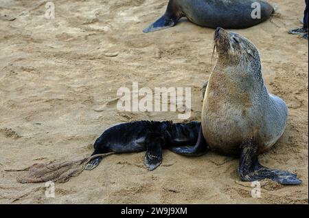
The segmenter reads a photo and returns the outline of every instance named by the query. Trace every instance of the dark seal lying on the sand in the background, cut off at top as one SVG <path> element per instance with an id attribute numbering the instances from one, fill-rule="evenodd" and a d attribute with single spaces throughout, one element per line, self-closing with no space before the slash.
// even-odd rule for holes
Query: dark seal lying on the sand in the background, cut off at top
<path id="1" fill-rule="evenodd" d="M 260 9 L 260 17 L 251 15 L 255 8 Z M 165 14 L 143 32 L 170 28 L 181 17 L 206 28 L 249 28 L 266 21 L 273 12 L 273 7 L 263 0 L 170 0 Z"/>

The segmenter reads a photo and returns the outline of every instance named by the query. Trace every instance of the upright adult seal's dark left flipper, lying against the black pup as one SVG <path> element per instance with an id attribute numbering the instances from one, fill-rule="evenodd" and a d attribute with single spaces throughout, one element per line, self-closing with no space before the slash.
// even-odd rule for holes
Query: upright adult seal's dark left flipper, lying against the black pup
<path id="1" fill-rule="evenodd" d="M 179 146 L 179 147 L 171 147 L 169 149 L 170 151 L 177 153 L 179 155 L 194 156 L 194 157 L 204 155 L 208 151 L 208 146 L 203 136 L 202 127 L 200 127 L 200 131 L 198 132 L 198 140 L 194 146 Z"/>

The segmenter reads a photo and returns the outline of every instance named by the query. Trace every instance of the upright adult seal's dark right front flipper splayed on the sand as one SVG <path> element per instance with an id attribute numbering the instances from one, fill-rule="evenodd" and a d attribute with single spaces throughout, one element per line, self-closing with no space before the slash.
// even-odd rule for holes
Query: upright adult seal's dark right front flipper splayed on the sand
<path id="1" fill-rule="evenodd" d="M 242 181 L 271 179 L 279 184 L 301 184 L 301 180 L 297 179 L 294 173 L 262 166 L 258 162 L 258 145 L 253 140 L 243 142 L 241 149 L 239 174 Z"/>

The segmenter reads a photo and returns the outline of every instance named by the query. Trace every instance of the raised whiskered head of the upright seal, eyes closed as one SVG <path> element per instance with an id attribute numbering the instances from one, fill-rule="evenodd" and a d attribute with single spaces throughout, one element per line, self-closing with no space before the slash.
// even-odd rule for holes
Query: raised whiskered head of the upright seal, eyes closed
<path id="1" fill-rule="evenodd" d="M 255 45 L 235 32 L 217 28 L 214 32 L 214 47 L 221 63 L 227 62 L 228 65 L 260 63 L 260 54 Z"/>

